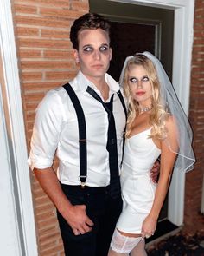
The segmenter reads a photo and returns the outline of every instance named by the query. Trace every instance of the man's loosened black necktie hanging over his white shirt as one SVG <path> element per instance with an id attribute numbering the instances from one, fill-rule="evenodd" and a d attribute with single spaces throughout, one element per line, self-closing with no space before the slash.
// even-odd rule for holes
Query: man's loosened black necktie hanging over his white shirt
<path id="1" fill-rule="evenodd" d="M 110 195 L 113 199 L 120 194 L 119 168 L 118 168 L 118 150 L 117 150 L 117 135 L 114 115 L 112 114 L 113 95 L 110 102 L 103 102 L 100 96 L 91 88 L 87 87 L 86 91 L 96 100 L 101 102 L 105 111 L 108 114 L 108 141 L 107 151 L 109 152 L 109 167 L 110 167 Z"/>

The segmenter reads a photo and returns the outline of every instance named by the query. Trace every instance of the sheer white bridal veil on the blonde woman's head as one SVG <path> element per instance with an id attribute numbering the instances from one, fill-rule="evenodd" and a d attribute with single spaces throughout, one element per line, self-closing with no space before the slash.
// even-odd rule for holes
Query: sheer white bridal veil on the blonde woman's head
<path id="1" fill-rule="evenodd" d="M 160 94 L 162 97 L 161 103 L 163 104 L 163 108 L 168 108 L 168 112 L 175 117 L 179 131 L 179 149 L 175 152 L 177 154 L 175 168 L 188 172 L 193 169 L 195 161 L 194 152 L 191 146 L 193 135 L 192 129 L 188 122 L 188 117 L 182 109 L 182 105 L 179 102 L 177 95 L 175 94 L 175 89 L 169 81 L 169 77 L 163 69 L 161 62 L 156 58 L 156 56 L 153 56 L 150 54 L 150 52 L 147 51 L 137 55 L 146 56 L 155 65 L 157 76 L 160 82 Z M 132 58 L 134 58 L 134 56 L 128 56 L 125 59 L 124 67 L 119 79 L 121 86 L 123 86 L 124 82 L 124 70 Z M 168 141 L 168 143 L 170 148 L 170 142 Z"/>

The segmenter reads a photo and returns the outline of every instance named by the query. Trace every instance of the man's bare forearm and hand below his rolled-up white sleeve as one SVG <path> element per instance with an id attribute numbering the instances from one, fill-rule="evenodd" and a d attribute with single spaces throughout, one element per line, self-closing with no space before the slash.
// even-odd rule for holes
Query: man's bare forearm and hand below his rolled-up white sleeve
<path id="1" fill-rule="evenodd" d="M 57 207 L 58 211 L 72 227 L 75 235 L 87 233 L 92 230 L 93 223 L 86 215 L 86 206 L 73 206 L 67 200 L 52 167 L 46 169 L 35 168 L 34 174 L 45 193 L 53 201 L 55 207 Z"/>

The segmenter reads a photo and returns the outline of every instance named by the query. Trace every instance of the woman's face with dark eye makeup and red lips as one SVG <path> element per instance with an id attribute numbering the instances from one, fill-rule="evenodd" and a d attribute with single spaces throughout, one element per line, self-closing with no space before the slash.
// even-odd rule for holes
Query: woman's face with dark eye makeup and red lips
<path id="1" fill-rule="evenodd" d="M 128 73 L 131 95 L 141 107 L 151 105 L 152 87 L 147 72 L 141 65 L 132 65 Z"/>

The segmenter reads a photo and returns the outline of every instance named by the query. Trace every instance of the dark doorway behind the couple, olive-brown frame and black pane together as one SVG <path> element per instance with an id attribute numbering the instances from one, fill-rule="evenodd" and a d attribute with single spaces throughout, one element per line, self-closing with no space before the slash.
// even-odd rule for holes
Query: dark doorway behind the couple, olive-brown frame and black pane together
<path id="1" fill-rule="evenodd" d="M 118 34 L 119 40 L 123 42 L 120 43 L 113 37 L 112 43 L 118 43 L 119 45 L 119 49 L 114 52 L 113 58 L 117 58 L 120 55 L 130 56 L 140 50 L 149 50 L 163 63 L 163 67 L 171 80 L 174 10 L 108 0 L 89 0 L 89 6 L 91 12 L 97 12 L 107 17 L 113 23 L 113 28 L 115 28 L 113 36 Z M 131 29 L 129 30 L 128 28 Z M 154 51 L 152 51 L 152 41 L 148 42 L 147 40 L 150 38 L 147 34 L 151 30 L 150 28 L 155 30 L 154 35 L 152 31 L 150 32 L 155 45 Z M 124 36 L 122 36 L 123 33 Z M 126 52 L 124 52 L 124 48 Z"/>

